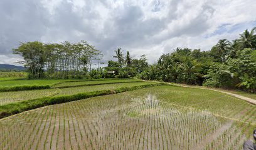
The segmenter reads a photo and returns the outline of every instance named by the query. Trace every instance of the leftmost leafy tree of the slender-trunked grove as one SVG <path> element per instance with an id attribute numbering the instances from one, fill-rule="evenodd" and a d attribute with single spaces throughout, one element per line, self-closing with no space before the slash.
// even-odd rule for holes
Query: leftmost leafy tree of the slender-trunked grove
<path id="1" fill-rule="evenodd" d="M 13 49 L 14 54 L 23 56 L 23 63 L 30 73 L 29 78 L 39 79 L 43 77 L 44 66 L 46 62 L 44 44 L 38 41 L 35 42 L 21 42 L 17 49 Z"/>

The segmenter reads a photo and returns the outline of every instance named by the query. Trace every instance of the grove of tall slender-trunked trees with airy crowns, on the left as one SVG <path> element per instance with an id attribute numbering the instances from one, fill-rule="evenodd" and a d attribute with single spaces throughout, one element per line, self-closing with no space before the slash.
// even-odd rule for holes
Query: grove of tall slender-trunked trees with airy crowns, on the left
<path id="1" fill-rule="evenodd" d="M 102 53 L 86 41 L 61 44 L 42 42 L 21 43 L 14 54 L 19 54 L 28 69 L 30 79 L 40 78 L 83 78 L 92 71 L 93 62 L 98 63 L 103 57 Z"/>

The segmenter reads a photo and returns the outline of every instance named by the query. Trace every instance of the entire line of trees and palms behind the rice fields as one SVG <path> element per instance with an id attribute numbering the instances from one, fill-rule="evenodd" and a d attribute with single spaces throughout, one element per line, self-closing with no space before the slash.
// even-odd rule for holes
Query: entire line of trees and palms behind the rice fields
<path id="1" fill-rule="evenodd" d="M 14 54 L 23 56 L 31 78 L 130 78 L 196 84 L 215 88 L 238 88 L 256 93 L 256 27 L 238 39 L 220 39 L 210 51 L 177 47 L 149 64 L 146 55 L 131 57 L 121 48 L 113 60 L 99 67 L 102 53 L 86 41 L 77 43 L 21 43 Z M 93 69 L 92 64 L 98 68 Z M 108 73 L 114 71 L 114 74 Z"/>

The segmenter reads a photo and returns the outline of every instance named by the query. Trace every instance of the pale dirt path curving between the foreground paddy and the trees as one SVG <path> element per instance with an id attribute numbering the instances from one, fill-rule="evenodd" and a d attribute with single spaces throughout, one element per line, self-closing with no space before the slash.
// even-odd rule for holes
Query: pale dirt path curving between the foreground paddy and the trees
<path id="1" fill-rule="evenodd" d="M 161 82 L 158 82 L 158 81 L 154 81 L 154 82 L 161 83 Z M 256 105 L 256 99 L 247 98 L 245 96 L 240 96 L 238 94 L 229 93 L 229 92 L 221 91 L 221 90 L 218 90 L 218 89 L 199 88 L 199 87 L 195 87 L 195 86 L 187 86 L 187 85 L 184 85 L 184 84 L 174 84 L 174 83 L 166 83 L 166 84 L 171 84 L 171 85 L 174 85 L 174 86 L 180 86 L 180 87 L 184 87 L 184 88 L 208 89 L 208 90 L 211 90 L 211 91 L 216 91 L 216 92 L 220 92 L 220 93 L 223 93 L 223 94 L 228 94 L 230 96 L 234 96 L 235 98 L 242 99 L 244 101 L 248 101 L 248 103 Z"/>

